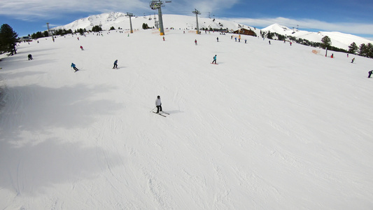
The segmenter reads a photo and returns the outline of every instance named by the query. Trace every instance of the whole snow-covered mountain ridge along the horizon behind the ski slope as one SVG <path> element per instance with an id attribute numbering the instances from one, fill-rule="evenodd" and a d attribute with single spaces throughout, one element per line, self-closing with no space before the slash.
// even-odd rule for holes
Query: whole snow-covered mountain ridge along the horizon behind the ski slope
<path id="1" fill-rule="evenodd" d="M 155 26 L 155 20 L 158 19 L 157 15 L 146 15 L 146 16 L 139 16 L 132 18 L 132 27 L 134 29 L 141 29 L 143 23 L 146 23 L 149 27 Z M 185 30 L 192 30 L 197 27 L 196 18 L 195 16 L 187 16 L 187 15 L 162 15 L 164 29 L 167 28 L 175 28 L 175 29 L 185 29 Z M 321 42 L 321 38 L 324 36 L 329 36 L 332 45 L 337 48 L 348 49 L 351 43 L 355 42 L 357 45 L 362 43 L 373 43 L 372 41 L 362 38 L 360 36 L 355 36 L 351 34 L 344 34 L 338 31 L 318 31 L 318 32 L 310 32 L 310 31 L 302 31 L 297 29 L 290 29 L 288 27 L 274 24 L 270 25 L 269 27 L 265 27 L 264 29 L 256 29 L 255 27 L 251 27 L 248 25 L 239 24 L 237 22 L 233 22 L 231 20 L 224 20 L 224 19 L 213 19 L 213 18 L 198 18 L 199 28 L 216 28 L 216 29 L 232 29 L 237 30 L 239 27 L 252 29 L 255 31 L 258 36 L 260 35 L 260 31 L 271 31 L 276 32 L 281 35 L 286 36 L 295 36 L 296 38 L 303 38 L 309 41 L 314 42 Z M 111 27 L 118 27 L 122 29 L 129 29 L 129 18 L 126 16 L 125 13 L 102 13 L 99 15 L 91 15 L 87 18 L 82 18 L 76 21 L 69 23 L 68 25 L 63 25 L 59 27 L 55 27 L 55 29 L 72 29 L 73 31 L 76 29 L 87 29 L 91 30 L 92 27 L 95 25 L 100 25 L 102 29 L 108 30 Z"/>

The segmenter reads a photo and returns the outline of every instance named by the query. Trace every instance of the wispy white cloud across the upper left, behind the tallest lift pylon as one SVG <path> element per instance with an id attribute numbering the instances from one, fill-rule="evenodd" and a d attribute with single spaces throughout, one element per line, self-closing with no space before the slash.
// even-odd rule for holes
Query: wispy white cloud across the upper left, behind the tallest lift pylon
<path id="1" fill-rule="evenodd" d="M 165 0 L 164 0 L 165 1 Z M 209 12 L 231 8 L 240 0 L 174 0 L 166 9 L 178 13 L 194 8 Z M 21 20 L 63 18 L 72 13 L 153 13 L 150 0 L 1 0 L 0 14 Z"/>

